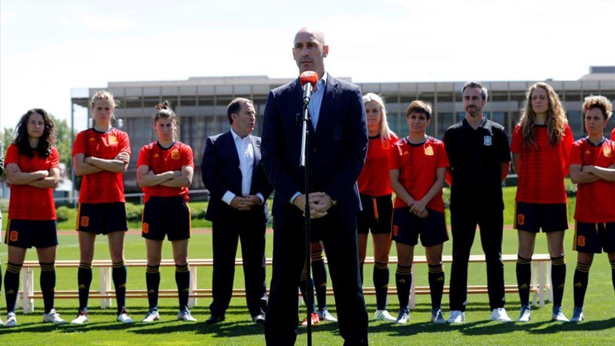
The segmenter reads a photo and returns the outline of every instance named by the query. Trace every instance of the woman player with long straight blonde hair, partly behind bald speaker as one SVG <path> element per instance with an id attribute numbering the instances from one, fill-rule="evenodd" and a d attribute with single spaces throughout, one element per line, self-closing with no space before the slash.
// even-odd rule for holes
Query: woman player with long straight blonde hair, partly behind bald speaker
<path id="1" fill-rule="evenodd" d="M 389 251 L 391 251 L 392 190 L 389 183 L 389 151 L 398 138 L 389 128 L 384 100 L 371 92 L 363 95 L 370 143 L 365 165 L 359 175 L 359 195 L 363 210 L 357 215 L 359 268 L 363 282 L 363 262 L 367 235 L 371 230 L 374 247 L 373 281 L 376 288 L 374 318 L 395 321 L 387 310 L 389 287 Z"/>

